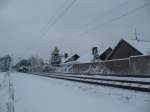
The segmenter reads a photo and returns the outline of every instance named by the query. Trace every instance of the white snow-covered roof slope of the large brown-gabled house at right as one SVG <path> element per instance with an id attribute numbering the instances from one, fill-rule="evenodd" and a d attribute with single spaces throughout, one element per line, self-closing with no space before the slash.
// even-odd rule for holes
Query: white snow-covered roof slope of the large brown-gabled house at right
<path id="1" fill-rule="evenodd" d="M 150 42 L 137 41 L 137 40 L 126 40 L 130 45 L 140 51 L 142 54 L 150 54 Z"/>

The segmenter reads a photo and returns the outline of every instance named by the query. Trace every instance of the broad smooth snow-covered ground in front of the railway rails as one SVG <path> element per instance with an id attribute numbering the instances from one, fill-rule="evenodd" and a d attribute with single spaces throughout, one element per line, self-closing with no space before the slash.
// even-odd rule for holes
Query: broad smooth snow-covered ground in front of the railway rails
<path id="1" fill-rule="evenodd" d="M 150 94 L 12 73 L 15 112 L 149 112 Z"/>

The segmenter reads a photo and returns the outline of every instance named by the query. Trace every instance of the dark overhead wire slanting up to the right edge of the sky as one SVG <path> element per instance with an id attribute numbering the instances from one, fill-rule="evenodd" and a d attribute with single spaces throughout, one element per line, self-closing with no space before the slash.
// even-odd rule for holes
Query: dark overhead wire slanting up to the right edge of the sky
<path id="1" fill-rule="evenodd" d="M 112 23 L 112 22 L 118 21 L 118 20 L 120 20 L 120 19 L 122 19 L 122 18 L 124 18 L 124 17 L 126 17 L 126 16 L 128 16 L 128 15 L 131 15 L 131 14 L 133 14 L 133 13 L 135 13 L 135 12 L 138 12 L 139 10 L 141 10 L 141 9 L 143 9 L 143 8 L 145 8 L 145 7 L 148 7 L 148 6 L 150 6 L 150 2 L 149 2 L 149 3 L 145 3 L 145 4 L 143 4 L 143 5 L 141 5 L 141 6 L 137 7 L 137 8 L 134 8 L 133 10 L 130 10 L 130 11 L 128 11 L 128 12 L 126 12 L 126 13 L 124 13 L 124 14 L 118 16 L 118 17 L 115 17 L 115 18 L 110 19 L 110 20 L 108 20 L 108 21 L 106 21 L 106 22 L 103 22 L 103 23 L 101 23 L 101 24 L 98 24 L 98 25 L 96 25 L 95 27 L 93 27 L 93 28 L 91 28 L 91 29 L 85 31 L 85 32 L 82 33 L 81 35 L 85 35 L 85 34 L 91 32 L 91 31 L 97 30 L 98 28 L 103 27 L 103 26 L 105 26 L 105 25 L 107 25 L 107 24 L 110 24 L 110 23 Z"/>

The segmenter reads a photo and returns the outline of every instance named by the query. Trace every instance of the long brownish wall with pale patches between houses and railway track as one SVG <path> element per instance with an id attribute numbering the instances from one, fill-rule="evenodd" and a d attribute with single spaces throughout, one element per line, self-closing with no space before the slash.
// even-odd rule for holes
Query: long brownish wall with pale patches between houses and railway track
<path id="1" fill-rule="evenodd" d="M 136 74 L 150 75 L 150 55 L 93 63 L 74 64 L 73 73 Z"/>

